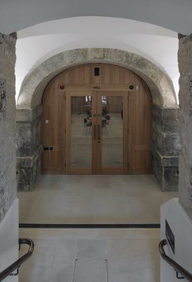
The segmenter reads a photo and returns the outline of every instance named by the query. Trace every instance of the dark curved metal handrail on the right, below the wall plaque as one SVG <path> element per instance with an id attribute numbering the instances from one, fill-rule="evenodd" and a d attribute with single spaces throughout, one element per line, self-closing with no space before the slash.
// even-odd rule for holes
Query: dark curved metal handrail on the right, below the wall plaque
<path id="1" fill-rule="evenodd" d="M 165 262 L 167 262 L 170 266 L 174 268 L 176 272 L 184 276 L 189 282 L 192 282 L 192 274 L 189 273 L 186 269 L 184 269 L 181 265 L 177 264 L 174 259 L 171 259 L 166 255 L 164 252 L 164 246 L 167 245 L 167 240 L 164 239 L 159 244 L 160 254 L 162 256 L 162 259 L 164 259 Z"/>

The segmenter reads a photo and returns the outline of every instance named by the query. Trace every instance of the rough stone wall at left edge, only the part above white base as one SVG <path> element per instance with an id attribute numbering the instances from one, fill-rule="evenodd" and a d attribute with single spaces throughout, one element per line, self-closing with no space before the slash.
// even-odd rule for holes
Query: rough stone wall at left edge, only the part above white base
<path id="1" fill-rule="evenodd" d="M 15 63 L 16 35 L 0 33 L 0 221 L 16 199 Z"/>

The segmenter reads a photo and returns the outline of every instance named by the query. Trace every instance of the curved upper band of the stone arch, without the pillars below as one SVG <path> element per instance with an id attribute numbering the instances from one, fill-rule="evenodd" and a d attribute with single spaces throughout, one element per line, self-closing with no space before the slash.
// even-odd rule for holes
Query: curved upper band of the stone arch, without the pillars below
<path id="1" fill-rule="evenodd" d="M 32 69 L 21 85 L 17 108 L 32 109 L 40 104 L 44 88 L 54 76 L 83 63 L 112 63 L 128 68 L 148 84 L 153 104 L 164 108 L 177 107 L 172 80 L 154 63 L 128 51 L 90 48 L 61 52 Z"/>

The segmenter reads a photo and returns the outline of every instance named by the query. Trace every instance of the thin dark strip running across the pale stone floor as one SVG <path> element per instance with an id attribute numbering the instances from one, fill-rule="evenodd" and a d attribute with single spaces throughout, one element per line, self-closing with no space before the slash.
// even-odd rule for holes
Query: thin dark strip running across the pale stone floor
<path id="1" fill-rule="evenodd" d="M 54 223 L 19 223 L 19 228 L 160 228 L 155 224 L 54 224 Z"/>

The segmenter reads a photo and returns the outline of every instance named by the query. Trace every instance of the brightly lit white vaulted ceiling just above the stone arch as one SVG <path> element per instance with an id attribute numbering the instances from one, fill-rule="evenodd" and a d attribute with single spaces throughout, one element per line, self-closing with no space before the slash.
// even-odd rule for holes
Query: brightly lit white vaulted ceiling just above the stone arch
<path id="1" fill-rule="evenodd" d="M 61 51 L 77 48 L 116 48 L 139 54 L 159 66 L 179 90 L 176 32 L 134 20 L 78 17 L 55 20 L 18 32 L 16 94 L 25 75 Z"/>

